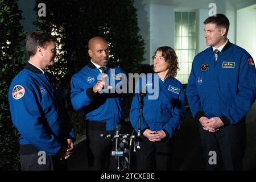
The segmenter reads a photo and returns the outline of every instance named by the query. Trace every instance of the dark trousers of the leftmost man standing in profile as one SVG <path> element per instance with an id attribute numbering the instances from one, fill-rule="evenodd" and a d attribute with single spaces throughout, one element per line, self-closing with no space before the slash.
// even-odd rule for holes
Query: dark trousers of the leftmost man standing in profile
<path id="1" fill-rule="evenodd" d="M 60 160 L 57 156 L 46 155 L 45 163 L 40 163 L 40 155 L 20 155 L 20 168 L 22 171 L 65 171 L 67 160 Z"/>

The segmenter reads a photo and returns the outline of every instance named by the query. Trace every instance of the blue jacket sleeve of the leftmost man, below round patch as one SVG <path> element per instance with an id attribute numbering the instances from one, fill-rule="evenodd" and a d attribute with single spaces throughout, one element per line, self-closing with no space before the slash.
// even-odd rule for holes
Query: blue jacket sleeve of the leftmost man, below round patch
<path id="1" fill-rule="evenodd" d="M 12 96 L 13 88 L 9 91 L 10 112 L 14 126 L 22 137 L 30 141 L 38 150 L 45 151 L 47 155 L 56 155 L 61 150 L 61 143 L 49 133 L 50 126 L 41 114 L 42 107 L 36 94 L 38 91 L 28 84 L 22 86 L 26 92 L 18 100 Z"/>

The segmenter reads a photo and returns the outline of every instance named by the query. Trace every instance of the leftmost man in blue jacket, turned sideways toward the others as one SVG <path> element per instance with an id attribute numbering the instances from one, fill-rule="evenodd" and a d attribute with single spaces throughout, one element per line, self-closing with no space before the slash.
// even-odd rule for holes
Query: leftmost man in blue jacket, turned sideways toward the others
<path id="1" fill-rule="evenodd" d="M 30 60 L 9 90 L 11 119 L 21 134 L 21 169 L 64 170 L 75 134 L 56 80 L 44 71 L 54 64 L 56 40 L 44 32 L 33 32 L 26 48 Z"/>

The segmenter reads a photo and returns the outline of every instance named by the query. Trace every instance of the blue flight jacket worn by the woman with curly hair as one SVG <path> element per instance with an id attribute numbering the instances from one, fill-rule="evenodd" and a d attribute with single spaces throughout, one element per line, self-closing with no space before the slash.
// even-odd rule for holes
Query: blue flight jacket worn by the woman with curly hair
<path id="1" fill-rule="evenodd" d="M 156 80 L 159 81 L 158 85 L 155 79 L 158 79 Z M 138 133 L 140 101 L 142 99 L 141 94 L 138 92 L 139 90 L 142 92 L 146 90 L 141 117 L 141 134 L 146 129 L 152 131 L 163 130 L 171 138 L 173 133 L 180 128 L 181 120 L 184 119 L 185 115 L 183 85 L 174 77 L 167 77 L 163 82 L 157 74 L 146 75 L 146 86 L 142 80 L 143 78 L 141 77 L 137 81 L 137 93 L 135 93 L 131 103 L 131 124 Z M 159 93 L 158 98 L 150 98 L 156 94 L 152 90 Z"/>

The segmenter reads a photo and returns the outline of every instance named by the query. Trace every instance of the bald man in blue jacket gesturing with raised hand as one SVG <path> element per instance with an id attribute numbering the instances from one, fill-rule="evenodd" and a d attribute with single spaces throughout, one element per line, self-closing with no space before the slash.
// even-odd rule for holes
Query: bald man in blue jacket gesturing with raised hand
<path id="1" fill-rule="evenodd" d="M 123 94 L 114 90 L 121 84 L 123 71 L 108 64 L 109 47 L 104 38 L 90 39 L 88 47 L 91 60 L 72 77 L 71 103 L 76 111 L 84 111 L 89 169 L 115 170 L 113 142 L 100 135 L 114 135 L 123 118 Z"/>

